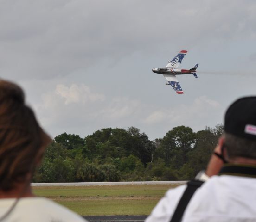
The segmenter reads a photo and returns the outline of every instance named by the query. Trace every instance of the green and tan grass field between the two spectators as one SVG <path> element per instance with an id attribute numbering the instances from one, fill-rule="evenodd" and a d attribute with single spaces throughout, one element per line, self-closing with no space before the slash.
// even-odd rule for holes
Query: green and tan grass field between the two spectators
<path id="1" fill-rule="evenodd" d="M 101 185 L 33 187 L 83 216 L 148 215 L 169 188 L 177 185 Z"/>

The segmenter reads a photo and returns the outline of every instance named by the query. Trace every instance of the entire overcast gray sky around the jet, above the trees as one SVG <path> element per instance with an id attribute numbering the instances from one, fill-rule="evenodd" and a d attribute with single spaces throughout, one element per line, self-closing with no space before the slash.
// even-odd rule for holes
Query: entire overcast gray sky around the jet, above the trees
<path id="1" fill-rule="evenodd" d="M 0 0 L 0 76 L 26 91 L 51 136 L 223 123 L 256 95 L 255 0 Z M 188 50 L 184 94 L 152 72 Z"/>

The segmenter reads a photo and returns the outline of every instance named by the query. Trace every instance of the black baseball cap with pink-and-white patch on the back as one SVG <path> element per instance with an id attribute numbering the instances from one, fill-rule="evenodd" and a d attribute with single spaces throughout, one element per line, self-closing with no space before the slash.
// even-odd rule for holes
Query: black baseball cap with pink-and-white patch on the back
<path id="1" fill-rule="evenodd" d="M 242 138 L 256 140 L 256 96 L 237 99 L 227 109 L 224 130 Z"/>

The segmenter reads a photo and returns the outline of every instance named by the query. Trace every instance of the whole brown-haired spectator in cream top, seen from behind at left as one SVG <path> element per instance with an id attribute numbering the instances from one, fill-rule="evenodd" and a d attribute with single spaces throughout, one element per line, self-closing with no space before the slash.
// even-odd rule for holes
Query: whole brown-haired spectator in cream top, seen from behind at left
<path id="1" fill-rule="evenodd" d="M 0 80 L 0 222 L 85 222 L 31 188 L 51 138 L 25 103 L 23 90 Z"/>

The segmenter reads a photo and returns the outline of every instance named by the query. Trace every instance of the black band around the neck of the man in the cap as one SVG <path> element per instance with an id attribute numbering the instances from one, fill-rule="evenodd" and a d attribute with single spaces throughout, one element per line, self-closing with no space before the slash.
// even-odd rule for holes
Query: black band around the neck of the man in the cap
<path id="1" fill-rule="evenodd" d="M 224 164 L 224 166 L 221 168 L 218 175 L 232 175 L 232 176 L 256 178 L 256 166 L 228 163 L 228 164 Z"/>

